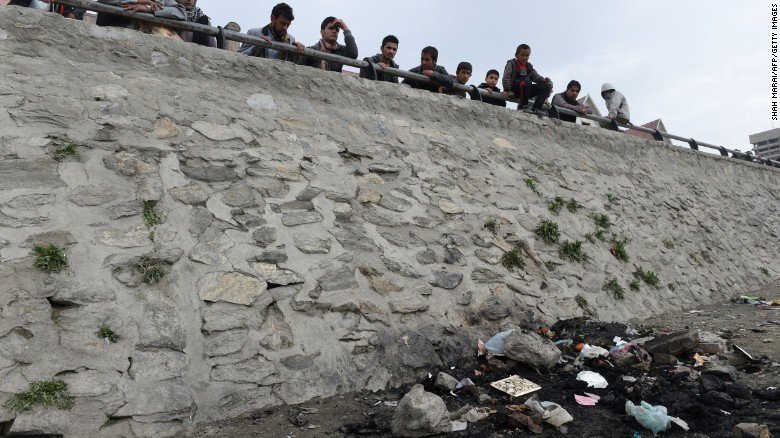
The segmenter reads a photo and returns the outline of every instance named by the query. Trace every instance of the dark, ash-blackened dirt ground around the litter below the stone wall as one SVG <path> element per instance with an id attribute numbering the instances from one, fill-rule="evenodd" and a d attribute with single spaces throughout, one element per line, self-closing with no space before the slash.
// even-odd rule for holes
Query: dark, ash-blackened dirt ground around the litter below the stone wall
<path id="1" fill-rule="evenodd" d="M 704 330 L 729 337 L 728 345 L 736 344 L 753 356 L 747 360 L 739 353 L 730 355 L 731 361 L 738 364 L 737 381 L 709 379 L 710 385 L 717 391 L 706 393 L 700 377 L 692 377 L 688 371 L 676 372 L 676 366 L 653 363 L 649 371 L 630 365 L 613 367 L 603 360 L 589 361 L 586 367 L 601 373 L 609 382 L 606 389 L 584 389 L 585 384 L 576 380 L 579 370 L 571 370 L 559 365 L 550 372 L 539 373 L 536 370 L 511 361 L 490 361 L 477 358 L 476 346 L 473 358 L 459 364 L 451 364 L 454 369 L 430 370 L 435 376 L 445 371 L 457 379 L 471 378 L 481 392 L 491 396 L 491 401 L 480 404 L 477 393 L 460 391 L 457 395 L 434 388 L 432 380 L 420 382 L 426 390 L 434 392 L 444 399 L 447 408 L 456 411 L 465 404 L 488 407 L 492 414 L 477 423 L 470 423 L 468 429 L 451 433 L 452 437 L 515 437 L 533 435 L 525 428 L 516 428 L 505 414 L 506 407 L 522 404 L 528 396 L 511 399 L 490 387 L 490 382 L 518 374 L 542 386 L 537 392 L 539 399 L 552 401 L 563 406 L 573 417 L 569 423 L 567 436 L 576 437 L 625 437 L 634 433 L 642 437 L 652 436 L 624 411 L 625 400 L 637 403 L 645 400 L 653 405 L 661 404 L 669 409 L 670 415 L 687 421 L 690 432 L 684 432 L 677 426 L 661 434 L 677 437 L 731 437 L 732 428 L 738 423 L 762 423 L 770 427 L 773 436 L 780 435 L 780 399 L 777 390 L 769 387 L 780 386 L 780 306 L 757 307 L 750 304 L 724 303 L 681 312 L 645 321 L 633 326 L 640 337 L 652 331 L 658 336 L 677 330 Z M 624 339 L 625 326 L 614 324 L 594 324 L 583 321 L 570 321 L 553 327 L 559 333 L 571 337 L 582 336 L 592 344 L 609 342 L 615 335 Z M 577 338 L 579 340 L 579 338 Z M 628 340 L 628 339 L 627 339 Z M 678 356 L 685 368 L 693 368 L 693 353 Z M 635 361 L 636 362 L 636 361 Z M 635 364 L 636 365 L 636 364 Z M 481 376 L 475 375 L 480 370 Z M 678 369 L 679 370 L 679 369 Z M 694 373 L 695 374 L 695 373 Z M 623 376 L 637 379 L 634 383 L 623 381 Z M 713 382 L 714 380 L 714 382 Z M 228 420 L 201 426 L 193 436 L 209 437 L 347 437 L 347 436 L 392 436 L 390 421 L 395 411 L 394 402 L 403 397 L 410 389 L 405 386 L 398 390 L 382 393 L 356 393 L 327 399 L 312 400 L 295 407 L 277 407 L 263 410 L 244 418 Z M 597 406 L 578 405 L 574 394 L 583 391 L 598 394 L 602 401 Z M 611 400 L 614 399 L 614 402 Z M 509 420 L 507 422 L 507 420 Z M 299 426 L 296 426 L 298 424 Z M 544 431 L 536 436 L 561 436 L 562 432 L 544 425 Z"/>

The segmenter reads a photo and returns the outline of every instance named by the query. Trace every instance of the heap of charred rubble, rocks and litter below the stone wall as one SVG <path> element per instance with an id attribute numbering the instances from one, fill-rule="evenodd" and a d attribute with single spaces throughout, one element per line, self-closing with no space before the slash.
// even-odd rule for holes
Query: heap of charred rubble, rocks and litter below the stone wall
<path id="1" fill-rule="evenodd" d="M 780 389 L 738 377 L 777 364 L 729 344 L 729 337 L 587 318 L 507 330 L 480 340 L 471 360 L 416 385 L 399 404 L 392 433 L 778 436 Z M 446 406 L 450 424 L 432 421 L 430 412 L 413 415 L 421 411 L 415 403 L 437 406 L 438 420 Z"/>

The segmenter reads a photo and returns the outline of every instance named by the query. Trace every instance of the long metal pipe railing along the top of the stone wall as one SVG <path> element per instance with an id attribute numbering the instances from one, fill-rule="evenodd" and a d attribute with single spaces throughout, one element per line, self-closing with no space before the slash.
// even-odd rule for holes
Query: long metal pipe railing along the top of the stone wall
<path id="1" fill-rule="evenodd" d="M 395 68 L 391 68 L 391 67 L 382 69 L 378 65 L 370 63 L 370 62 L 367 62 L 367 61 L 351 59 L 351 58 L 345 58 L 345 57 L 342 57 L 342 56 L 334 55 L 332 53 L 321 52 L 321 51 L 312 50 L 312 49 L 308 49 L 308 48 L 305 49 L 303 52 L 298 52 L 297 47 L 292 45 L 292 44 L 279 43 L 279 42 L 275 42 L 275 41 L 266 41 L 266 40 L 264 40 L 262 38 L 249 36 L 249 35 L 246 35 L 246 34 L 243 34 L 243 33 L 240 33 L 240 32 L 235 32 L 235 31 L 228 30 L 228 29 L 223 29 L 222 27 L 212 27 L 212 26 L 207 26 L 207 25 L 203 25 L 203 24 L 192 23 L 192 22 L 189 22 L 189 21 L 180 21 L 180 20 L 170 20 L 170 19 L 165 19 L 165 18 L 158 18 L 158 17 L 155 17 L 154 15 L 151 15 L 151 14 L 144 14 L 144 13 L 133 14 L 131 12 L 125 11 L 121 7 L 111 6 L 111 5 L 107 5 L 107 4 L 103 4 L 103 3 L 98 3 L 96 1 L 89 1 L 89 0 L 56 0 L 55 3 L 66 5 L 66 6 L 73 6 L 73 7 L 77 7 L 77 8 L 88 9 L 88 10 L 92 10 L 92 11 L 95 11 L 95 12 L 98 12 L 98 13 L 125 17 L 125 18 L 129 18 L 129 19 L 132 19 L 132 20 L 138 20 L 138 21 L 143 21 L 143 22 L 147 22 L 147 23 L 159 24 L 159 25 L 163 25 L 163 26 L 166 26 L 166 27 L 169 27 L 169 28 L 172 28 L 172 29 L 186 30 L 186 31 L 206 34 L 206 35 L 209 35 L 209 36 L 216 37 L 218 40 L 238 41 L 240 43 L 252 44 L 252 45 L 260 46 L 260 47 L 267 48 L 267 49 L 273 49 L 273 50 L 278 50 L 278 51 L 283 51 L 283 52 L 297 53 L 299 55 L 309 56 L 309 57 L 312 57 L 312 58 L 322 59 L 322 60 L 326 60 L 326 61 L 338 62 L 340 64 L 348 65 L 350 67 L 355 67 L 355 68 L 359 68 L 359 69 L 364 69 L 364 68 L 373 69 L 373 70 L 375 70 L 377 72 L 381 71 L 383 73 L 389 73 L 389 74 L 391 74 L 393 76 L 397 76 L 397 77 L 400 77 L 400 78 L 412 79 L 412 80 L 416 80 L 416 81 L 423 82 L 423 83 L 439 85 L 437 82 L 432 81 L 430 78 L 428 78 L 425 75 L 416 74 L 416 73 L 412 73 L 412 72 L 408 72 L 408 71 L 400 70 L 400 69 L 395 69 Z M 485 89 L 480 89 L 480 88 L 477 88 L 475 86 L 461 85 L 461 84 L 457 84 L 456 83 L 456 84 L 454 84 L 451 87 L 451 89 L 452 90 L 456 90 L 456 91 L 460 91 L 460 92 L 469 93 L 469 95 L 471 96 L 471 98 L 473 100 L 484 100 L 485 98 L 488 98 L 488 99 L 504 100 L 506 102 L 511 102 L 511 103 L 519 103 L 517 99 L 511 98 L 511 97 L 506 97 L 503 93 L 495 93 L 495 92 L 491 93 L 491 92 L 489 92 L 489 91 L 487 91 Z M 639 131 L 639 132 L 644 132 L 644 133 L 650 134 L 650 135 L 653 136 L 653 138 L 655 140 L 658 140 L 658 141 L 663 141 L 665 138 L 669 138 L 669 139 L 672 139 L 672 140 L 677 140 L 677 141 L 686 143 L 686 144 L 688 144 L 688 146 L 691 149 L 696 150 L 696 151 L 699 151 L 700 148 L 712 149 L 712 150 L 718 151 L 720 153 L 720 155 L 722 155 L 724 157 L 729 157 L 730 156 L 732 158 L 737 158 L 737 159 L 740 159 L 740 160 L 745 160 L 745 161 L 750 161 L 750 162 L 754 162 L 754 163 L 765 164 L 765 165 L 768 165 L 768 166 L 780 168 L 780 161 L 770 160 L 770 159 L 767 159 L 767 158 L 761 158 L 761 157 L 757 157 L 757 156 L 755 156 L 755 155 L 753 155 L 751 153 L 741 152 L 741 151 L 738 151 L 738 150 L 735 150 L 735 149 L 728 149 L 728 148 L 725 148 L 723 146 L 716 146 L 716 145 L 713 145 L 713 144 L 700 142 L 700 141 L 694 140 L 693 138 L 681 137 L 681 136 L 670 134 L 670 133 L 667 133 L 667 132 L 661 132 L 659 130 L 645 128 L 643 126 L 635 126 L 635 125 L 632 125 L 631 123 L 626 123 L 626 124 L 618 123 L 617 121 L 609 119 L 609 118 L 606 118 L 606 117 L 599 117 L 599 116 L 594 116 L 594 115 L 590 115 L 590 114 L 579 114 L 579 113 L 577 113 L 575 111 L 572 111 L 572 110 L 569 110 L 567 108 L 560 108 L 560 107 L 553 106 L 552 110 L 550 112 L 551 112 L 551 116 L 552 117 L 556 117 L 559 114 L 567 114 L 567 115 L 579 117 L 581 119 L 593 120 L 593 121 L 599 122 L 603 126 L 606 126 L 608 129 L 612 129 L 614 131 L 620 131 L 620 128 L 633 129 L 635 131 Z"/>

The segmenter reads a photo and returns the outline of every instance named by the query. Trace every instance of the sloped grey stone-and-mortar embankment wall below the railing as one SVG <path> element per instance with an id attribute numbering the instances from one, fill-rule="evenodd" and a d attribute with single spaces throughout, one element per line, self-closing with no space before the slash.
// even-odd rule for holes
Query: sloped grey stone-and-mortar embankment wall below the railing
<path id="1" fill-rule="evenodd" d="M 767 167 L 18 8 L 0 57 L 0 404 L 75 402 L 0 408 L 7 433 L 173 436 L 780 273 Z"/>

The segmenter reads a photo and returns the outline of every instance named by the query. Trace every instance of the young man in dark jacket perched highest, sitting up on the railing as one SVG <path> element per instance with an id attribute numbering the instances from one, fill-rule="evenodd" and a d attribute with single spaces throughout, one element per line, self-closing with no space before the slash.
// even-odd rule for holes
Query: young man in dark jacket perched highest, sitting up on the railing
<path id="1" fill-rule="evenodd" d="M 504 68 L 504 94 L 507 97 L 514 96 L 520 101 L 518 109 L 525 109 L 528 100 L 535 98 L 531 110 L 536 115 L 546 116 L 542 105 L 552 93 L 552 80 L 537 73 L 534 66 L 528 62 L 529 58 L 531 47 L 527 44 L 517 46 L 515 57 L 507 61 Z"/>

